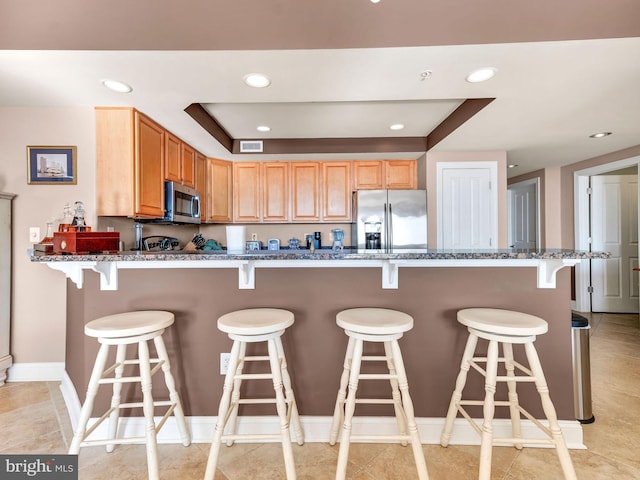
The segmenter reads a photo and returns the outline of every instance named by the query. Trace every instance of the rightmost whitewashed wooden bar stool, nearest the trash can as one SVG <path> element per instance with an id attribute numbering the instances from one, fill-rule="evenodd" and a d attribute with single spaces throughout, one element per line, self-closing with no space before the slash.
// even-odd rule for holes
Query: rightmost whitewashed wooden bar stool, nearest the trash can
<path id="1" fill-rule="evenodd" d="M 460 373 L 456 380 L 455 390 L 449 404 L 449 411 L 445 420 L 440 444 L 446 447 L 451 439 L 453 422 L 460 412 L 481 435 L 480 441 L 480 472 L 479 480 L 489 480 L 491 477 L 491 453 L 494 444 L 511 443 L 517 449 L 522 449 L 523 443 L 546 444 L 555 447 L 560 459 L 560 465 L 567 480 L 575 480 L 576 474 L 564 441 L 556 411 L 549 397 L 549 388 L 544 378 L 542 366 L 534 346 L 536 335 L 547 332 L 548 325 L 543 319 L 526 313 L 494 308 L 469 308 L 458 312 L 458 322 L 469 330 L 469 338 L 462 356 Z M 474 356 L 478 339 L 489 341 L 486 357 Z M 499 344 L 502 344 L 503 357 L 498 356 Z M 529 368 L 515 361 L 513 345 L 523 345 L 529 363 Z M 484 363 L 486 369 L 479 364 Z M 498 364 L 503 363 L 505 376 L 497 374 Z M 473 367 L 485 377 L 485 397 L 483 400 L 462 400 L 462 392 L 467 380 L 469 368 Z M 516 375 L 516 371 L 521 375 Z M 507 401 L 495 401 L 496 382 L 506 382 L 509 395 Z M 533 382 L 536 385 L 544 414 L 549 426 L 545 426 L 526 411 L 518 402 L 516 385 L 518 382 Z M 471 418 L 465 410 L 465 405 L 482 405 L 482 428 Z M 495 438 L 493 436 L 493 416 L 495 407 L 509 407 L 511 415 L 512 433 L 510 438 Z M 548 438 L 524 439 L 521 435 L 520 415 L 524 415 L 540 428 Z"/>

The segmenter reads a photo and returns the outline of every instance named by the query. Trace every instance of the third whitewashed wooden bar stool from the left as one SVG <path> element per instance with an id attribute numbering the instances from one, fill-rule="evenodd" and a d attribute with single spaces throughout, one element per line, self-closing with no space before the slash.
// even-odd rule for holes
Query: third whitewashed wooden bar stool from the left
<path id="1" fill-rule="evenodd" d="M 344 480 L 347 472 L 350 442 L 401 442 L 411 443 L 420 480 L 427 480 L 427 464 L 424 460 L 418 426 L 409 396 L 409 383 L 402 361 L 398 339 L 413 328 L 413 318 L 406 313 L 385 308 L 352 308 L 336 315 L 336 323 L 349 337 L 344 370 L 331 424 L 329 443 L 335 445 L 340 429 L 340 451 L 336 480 Z M 384 344 L 384 355 L 363 355 L 364 342 Z M 388 373 L 360 373 L 362 362 L 385 362 Z M 389 380 L 391 398 L 356 398 L 360 380 Z M 348 391 L 348 393 L 347 393 Z M 398 435 L 353 435 L 351 424 L 356 404 L 392 404 L 398 422 Z"/>

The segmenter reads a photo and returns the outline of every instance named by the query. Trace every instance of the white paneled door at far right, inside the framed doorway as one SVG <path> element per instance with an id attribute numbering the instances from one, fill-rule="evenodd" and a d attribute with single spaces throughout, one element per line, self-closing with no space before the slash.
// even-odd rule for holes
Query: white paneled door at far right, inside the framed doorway
<path id="1" fill-rule="evenodd" d="M 638 312 L 638 176 L 591 177 L 592 250 L 611 258 L 591 261 L 591 310 Z"/>

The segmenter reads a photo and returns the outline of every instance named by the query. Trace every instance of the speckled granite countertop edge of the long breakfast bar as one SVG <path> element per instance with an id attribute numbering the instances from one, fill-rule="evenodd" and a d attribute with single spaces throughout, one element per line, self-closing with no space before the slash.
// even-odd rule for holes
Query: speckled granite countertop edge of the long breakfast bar
<path id="1" fill-rule="evenodd" d="M 32 262 L 144 262 L 144 261 L 225 261 L 225 260 L 589 260 L 609 258 L 608 252 L 562 249 L 545 250 L 406 250 L 368 252 L 363 250 L 278 250 L 263 253 L 227 253 L 226 251 L 152 251 L 91 254 L 43 254 L 35 252 Z"/>

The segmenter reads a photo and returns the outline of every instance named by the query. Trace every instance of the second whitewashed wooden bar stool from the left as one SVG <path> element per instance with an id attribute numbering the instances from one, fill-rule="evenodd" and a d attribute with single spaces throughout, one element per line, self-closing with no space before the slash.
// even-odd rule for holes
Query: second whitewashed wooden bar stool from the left
<path id="1" fill-rule="evenodd" d="M 224 380 L 218 419 L 204 475 L 205 480 L 213 480 L 221 443 L 226 441 L 230 446 L 234 440 L 241 439 L 258 442 L 280 440 L 287 479 L 294 480 L 296 478 L 289 422 L 293 424 L 293 431 L 299 445 L 304 443 L 304 434 L 280 338 L 285 329 L 293 325 L 293 322 L 293 313 L 277 308 L 238 310 L 227 313 L 218 319 L 218 329 L 229 335 L 229 338 L 233 340 L 233 346 L 231 347 L 231 358 Z M 267 356 L 246 355 L 247 344 L 256 342 L 267 342 Z M 246 362 L 259 361 L 269 362 L 270 373 L 243 373 Z M 275 390 L 275 398 L 241 398 L 240 387 L 243 380 L 271 380 Z M 280 418 L 280 433 L 236 433 L 238 406 L 260 403 L 275 403 Z"/>

